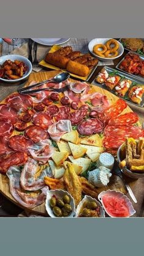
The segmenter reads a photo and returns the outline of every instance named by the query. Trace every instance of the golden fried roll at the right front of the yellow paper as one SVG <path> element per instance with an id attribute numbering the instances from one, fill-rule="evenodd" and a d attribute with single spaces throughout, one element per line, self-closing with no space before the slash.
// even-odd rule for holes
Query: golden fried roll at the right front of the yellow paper
<path id="1" fill-rule="evenodd" d="M 87 76 L 89 73 L 89 68 L 85 65 L 82 65 L 78 62 L 75 62 L 73 60 L 69 60 L 67 64 L 67 71 L 78 75 L 78 76 Z"/>

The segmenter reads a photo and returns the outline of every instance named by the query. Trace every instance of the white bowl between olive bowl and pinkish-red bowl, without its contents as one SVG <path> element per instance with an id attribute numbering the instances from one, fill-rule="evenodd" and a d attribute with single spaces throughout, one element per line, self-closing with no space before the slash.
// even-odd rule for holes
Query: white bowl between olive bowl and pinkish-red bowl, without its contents
<path id="1" fill-rule="evenodd" d="M 76 208 L 76 217 L 79 216 L 79 213 L 80 213 L 80 211 L 81 211 L 82 205 L 84 204 L 85 201 L 90 201 L 90 202 L 95 201 L 95 202 L 97 203 L 97 205 L 100 207 L 100 213 L 101 213 L 101 216 L 100 216 L 100 217 L 101 217 L 101 218 L 104 218 L 104 217 L 105 217 L 104 209 L 103 209 L 101 203 L 99 203 L 95 198 L 92 198 L 92 197 L 90 197 L 90 196 L 85 196 L 85 197 L 81 200 L 81 202 L 79 203 L 79 205 L 77 205 L 77 208 Z M 97 217 L 91 217 L 91 218 L 97 218 Z"/>

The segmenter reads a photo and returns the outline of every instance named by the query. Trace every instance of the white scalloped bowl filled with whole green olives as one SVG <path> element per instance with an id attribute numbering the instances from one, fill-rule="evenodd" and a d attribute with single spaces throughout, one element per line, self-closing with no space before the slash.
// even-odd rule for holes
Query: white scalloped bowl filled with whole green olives
<path id="1" fill-rule="evenodd" d="M 76 217 L 74 199 L 67 191 L 62 189 L 49 190 L 46 194 L 46 211 L 52 218 Z"/>

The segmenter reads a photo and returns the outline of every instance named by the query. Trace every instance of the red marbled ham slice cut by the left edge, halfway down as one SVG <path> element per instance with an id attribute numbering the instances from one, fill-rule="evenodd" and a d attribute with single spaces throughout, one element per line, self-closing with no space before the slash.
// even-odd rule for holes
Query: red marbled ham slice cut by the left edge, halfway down
<path id="1" fill-rule="evenodd" d="M 8 119 L 0 119 L 0 136 L 10 136 L 13 132 L 13 125 Z"/>

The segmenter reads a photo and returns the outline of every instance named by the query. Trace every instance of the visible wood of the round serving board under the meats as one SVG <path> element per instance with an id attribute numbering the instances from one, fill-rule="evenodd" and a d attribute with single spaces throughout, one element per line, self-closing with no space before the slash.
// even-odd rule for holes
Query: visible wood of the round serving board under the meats
<path id="1" fill-rule="evenodd" d="M 46 71 L 46 72 L 40 72 L 40 73 L 31 73 L 31 75 L 29 76 L 29 80 L 26 82 L 25 86 L 28 86 L 29 82 L 31 82 L 31 81 L 40 82 L 40 81 L 44 81 L 46 79 L 52 78 L 60 72 L 61 72 L 60 70 L 57 70 L 57 71 Z M 71 79 L 71 81 L 73 81 L 73 80 Z M 100 92 L 100 93 L 103 93 L 104 95 L 106 95 L 107 98 L 109 98 L 111 104 L 113 104 L 115 101 L 118 100 L 117 96 L 113 95 L 112 93 L 110 93 L 107 90 L 104 90 L 100 87 L 97 87 L 97 86 L 93 85 L 92 90 L 93 90 L 93 92 Z M 1 101 L 1 104 L 4 103 L 4 102 L 5 102 L 5 99 Z M 125 112 L 132 112 L 132 110 L 128 106 L 126 109 L 124 109 L 123 114 Z M 129 185 L 131 186 L 131 188 L 132 188 L 132 186 L 135 185 L 135 180 L 131 179 L 131 181 L 130 181 L 128 179 L 127 181 L 129 183 Z M 107 190 L 107 189 L 117 189 L 118 185 L 121 186 L 120 191 L 124 192 L 126 194 L 126 191 L 125 191 L 124 186 L 123 186 L 123 182 L 120 180 L 120 178 L 118 178 L 115 175 L 113 175 L 111 177 L 109 186 L 107 186 L 106 188 L 99 188 L 99 193 L 101 191 Z M 2 174 L 0 174 L 0 191 L 5 197 L 7 197 L 7 199 L 12 201 L 13 203 L 18 205 L 19 207 L 24 208 L 18 202 L 16 202 L 15 199 L 13 199 L 12 195 L 10 194 L 10 190 L 9 190 L 9 178 L 6 175 L 2 175 Z M 33 209 L 27 209 L 27 210 L 32 211 L 32 213 L 37 213 L 37 214 L 48 216 L 48 214 L 46 213 L 46 209 L 45 209 L 45 203 L 43 203 L 43 204 L 41 204 L 38 207 L 35 207 Z"/>

